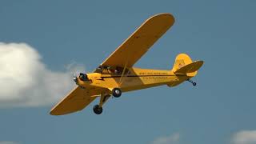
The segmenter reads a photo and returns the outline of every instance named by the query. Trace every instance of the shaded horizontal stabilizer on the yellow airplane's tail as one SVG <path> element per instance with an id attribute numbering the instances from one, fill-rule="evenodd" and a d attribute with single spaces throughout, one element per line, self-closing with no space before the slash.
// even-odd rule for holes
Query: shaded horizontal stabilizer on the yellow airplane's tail
<path id="1" fill-rule="evenodd" d="M 187 74 L 194 73 L 202 66 L 203 61 L 195 61 L 186 66 L 182 66 L 180 69 L 174 71 L 174 74 Z"/>

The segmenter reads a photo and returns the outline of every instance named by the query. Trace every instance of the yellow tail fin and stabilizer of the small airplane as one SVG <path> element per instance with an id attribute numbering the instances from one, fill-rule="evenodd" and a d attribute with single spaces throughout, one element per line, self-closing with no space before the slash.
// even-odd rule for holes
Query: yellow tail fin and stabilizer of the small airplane
<path id="1" fill-rule="evenodd" d="M 186 74 L 189 77 L 194 77 L 202 64 L 203 61 L 192 62 L 187 54 L 178 54 L 172 71 L 174 74 Z"/>

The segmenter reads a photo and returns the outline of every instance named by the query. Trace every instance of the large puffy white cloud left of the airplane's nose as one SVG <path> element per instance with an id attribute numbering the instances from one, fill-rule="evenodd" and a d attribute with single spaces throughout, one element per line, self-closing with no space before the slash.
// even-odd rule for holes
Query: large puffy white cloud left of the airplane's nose
<path id="1" fill-rule="evenodd" d="M 68 66 L 71 71 L 74 66 Z M 72 72 L 52 71 L 26 43 L 0 42 L 0 107 L 45 106 L 74 88 Z"/>

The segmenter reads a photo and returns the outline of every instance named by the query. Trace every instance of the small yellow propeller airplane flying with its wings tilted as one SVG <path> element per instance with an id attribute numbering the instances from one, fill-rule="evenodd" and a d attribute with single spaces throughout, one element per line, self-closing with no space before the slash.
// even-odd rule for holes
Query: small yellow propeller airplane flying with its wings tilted
<path id="1" fill-rule="evenodd" d="M 178 86 L 185 81 L 195 86 L 196 83 L 190 78 L 197 74 L 203 61 L 192 62 L 187 54 L 178 54 L 172 70 L 133 67 L 173 24 L 171 14 L 157 14 L 147 19 L 93 73 L 74 76 L 78 86 L 58 102 L 50 114 L 62 115 L 82 110 L 98 97 L 99 103 L 94 106 L 94 113 L 102 114 L 102 106 L 111 95 L 118 98 L 123 92 L 162 85 Z"/>

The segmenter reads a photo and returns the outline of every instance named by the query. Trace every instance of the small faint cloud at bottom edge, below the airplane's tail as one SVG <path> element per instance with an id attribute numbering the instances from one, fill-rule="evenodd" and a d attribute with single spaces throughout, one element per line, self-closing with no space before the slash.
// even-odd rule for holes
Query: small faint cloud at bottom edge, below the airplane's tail
<path id="1" fill-rule="evenodd" d="M 152 142 L 152 144 L 177 144 L 179 138 L 180 138 L 180 135 L 178 133 L 175 133 L 166 137 L 156 138 Z"/>

